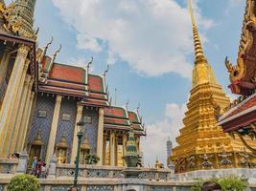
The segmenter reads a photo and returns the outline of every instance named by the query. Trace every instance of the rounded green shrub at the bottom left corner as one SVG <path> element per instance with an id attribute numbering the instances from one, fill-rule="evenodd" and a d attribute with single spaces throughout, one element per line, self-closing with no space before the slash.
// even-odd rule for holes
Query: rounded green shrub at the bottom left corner
<path id="1" fill-rule="evenodd" d="M 17 175 L 8 185 L 10 191 L 39 191 L 39 181 L 33 175 Z"/>

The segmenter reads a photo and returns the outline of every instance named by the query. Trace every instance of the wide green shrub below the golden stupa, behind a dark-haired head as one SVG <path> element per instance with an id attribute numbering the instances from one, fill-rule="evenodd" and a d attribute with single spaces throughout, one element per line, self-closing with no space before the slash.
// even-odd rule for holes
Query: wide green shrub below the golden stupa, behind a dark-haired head
<path id="1" fill-rule="evenodd" d="M 214 181 L 219 183 L 221 185 L 222 191 L 244 191 L 248 186 L 247 180 L 235 176 L 230 176 L 220 179 L 197 180 L 197 182 L 192 186 L 191 190 L 201 191 L 201 185 L 204 181 Z"/>

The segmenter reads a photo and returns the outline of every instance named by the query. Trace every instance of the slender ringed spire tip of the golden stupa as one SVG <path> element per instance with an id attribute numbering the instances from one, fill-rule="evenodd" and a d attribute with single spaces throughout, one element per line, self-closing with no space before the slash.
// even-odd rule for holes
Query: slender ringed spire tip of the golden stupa
<path id="1" fill-rule="evenodd" d="M 193 8 L 192 8 L 192 0 L 189 0 L 189 11 L 190 11 L 190 16 L 191 16 L 191 21 L 192 21 L 192 28 L 193 28 L 193 38 L 194 38 L 194 46 L 195 46 L 195 64 L 198 63 L 198 61 L 200 60 L 206 60 L 204 54 L 203 54 L 203 50 L 202 50 L 202 46 L 200 43 L 200 38 L 199 38 L 199 34 L 198 34 L 198 27 L 195 21 L 195 16 L 193 13 Z"/>

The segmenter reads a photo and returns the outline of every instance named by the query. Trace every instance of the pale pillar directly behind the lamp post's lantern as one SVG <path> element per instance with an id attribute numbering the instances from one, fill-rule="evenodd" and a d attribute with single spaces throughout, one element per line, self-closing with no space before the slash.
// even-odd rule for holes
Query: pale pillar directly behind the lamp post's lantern
<path id="1" fill-rule="evenodd" d="M 71 163 L 75 163 L 77 151 L 78 151 L 78 126 L 77 123 L 81 120 L 82 116 L 82 105 L 77 106 L 77 117 L 76 117 L 76 123 L 74 127 L 74 135 L 73 135 L 73 143 L 72 143 L 72 150 L 71 150 Z"/>

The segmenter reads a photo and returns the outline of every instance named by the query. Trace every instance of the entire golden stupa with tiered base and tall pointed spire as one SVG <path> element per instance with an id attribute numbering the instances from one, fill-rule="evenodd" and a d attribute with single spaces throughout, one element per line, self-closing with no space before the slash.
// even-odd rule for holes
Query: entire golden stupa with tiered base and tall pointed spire
<path id="1" fill-rule="evenodd" d="M 203 53 L 191 1 L 189 10 L 195 44 L 192 90 L 183 119 L 184 127 L 176 138 L 178 146 L 169 160 L 175 163 L 175 173 L 242 167 L 242 156 L 248 150 L 240 140 L 232 139 L 217 125 L 217 111 L 224 111 L 230 101 Z"/>

